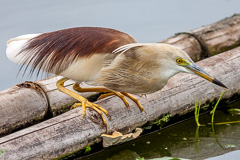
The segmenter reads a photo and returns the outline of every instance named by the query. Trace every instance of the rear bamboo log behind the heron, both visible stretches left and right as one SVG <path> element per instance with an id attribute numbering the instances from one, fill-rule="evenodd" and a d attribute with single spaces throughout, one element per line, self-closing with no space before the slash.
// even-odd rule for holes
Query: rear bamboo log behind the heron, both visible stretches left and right
<path id="1" fill-rule="evenodd" d="M 201 27 L 187 34 L 179 34 L 162 42 L 176 45 L 187 51 L 194 60 L 199 60 L 206 57 L 205 52 L 203 52 L 205 50 L 208 50 L 208 52 L 211 51 L 209 53 L 214 52 L 215 54 L 222 50 L 233 48 L 239 44 L 239 22 L 240 15 L 234 15 L 220 22 Z M 204 47 L 206 48 L 205 44 L 207 44 L 207 49 L 204 49 Z M 38 98 L 38 96 L 27 96 L 28 98 L 24 99 L 24 104 L 21 106 L 16 106 L 14 104 L 20 104 L 20 102 L 18 103 L 18 100 L 22 99 L 24 95 L 39 95 L 36 88 L 26 87 L 29 82 L 23 83 L 20 88 L 15 86 L 6 91 L 0 92 L 0 109 L 4 108 L 0 111 L 0 121 L 2 122 L 0 123 L 0 135 L 11 133 L 18 128 L 32 124 L 33 122 L 44 120 L 44 117 L 49 117 L 51 115 L 55 116 L 69 110 L 70 106 L 74 104 L 76 100 L 57 90 L 56 81 L 59 78 L 60 77 L 53 77 L 32 83 L 42 88 L 42 96 L 45 96 L 45 98 L 42 99 Z M 71 89 L 72 84 L 72 81 L 66 82 L 67 88 Z M 34 90 L 36 90 L 36 93 L 33 93 Z M 93 93 L 81 93 L 84 97 L 92 94 Z M 14 99 L 14 103 L 5 103 L 4 101 L 6 97 L 9 102 L 12 101 L 11 99 Z M 21 112 L 18 108 L 21 108 Z M 44 108 L 44 110 L 40 110 L 40 108 Z M 8 119 L 10 119 L 9 113 L 12 114 L 11 117 L 13 118 L 8 121 Z M 46 115 L 46 113 L 50 113 L 51 115 Z M 9 116 L 8 119 L 6 119 L 6 116 Z"/>

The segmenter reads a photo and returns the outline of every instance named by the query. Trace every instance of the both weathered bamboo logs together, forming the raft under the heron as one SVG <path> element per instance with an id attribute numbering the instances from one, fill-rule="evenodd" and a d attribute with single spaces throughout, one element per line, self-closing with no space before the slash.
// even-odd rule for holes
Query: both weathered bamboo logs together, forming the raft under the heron
<path id="1" fill-rule="evenodd" d="M 204 38 L 207 37 L 205 34 L 212 37 L 207 40 Z M 190 56 L 195 61 L 234 48 L 240 45 L 240 15 L 234 15 L 189 33 L 175 35 L 164 42 L 177 45 L 188 53 L 194 53 Z M 198 52 L 195 51 L 196 48 L 199 48 Z M 197 64 L 229 88 L 224 94 L 225 100 L 229 101 L 234 96 L 239 97 L 240 47 Z M 100 135 L 106 133 L 106 128 L 95 111 L 86 109 L 84 118 L 81 116 L 81 107 L 60 114 L 69 110 L 76 101 L 57 91 L 55 86 L 57 79 L 59 77 L 39 82 L 25 82 L 0 93 L 0 134 L 6 135 L 42 121 L 0 138 L 0 149 L 6 150 L 0 159 L 53 159 L 102 141 Z M 71 88 L 72 83 L 66 84 L 68 88 Z M 111 119 L 106 117 L 107 132 L 117 130 L 125 134 L 164 114 L 174 116 L 192 112 L 196 99 L 208 107 L 222 91 L 222 88 L 200 77 L 181 73 L 172 77 L 161 91 L 147 97 L 135 96 L 145 112 L 140 112 L 136 104 L 128 99 L 129 111 L 116 96 L 96 103 L 108 110 L 111 115 Z M 83 95 L 90 96 L 89 93 Z M 45 120 L 52 115 L 58 116 Z"/>

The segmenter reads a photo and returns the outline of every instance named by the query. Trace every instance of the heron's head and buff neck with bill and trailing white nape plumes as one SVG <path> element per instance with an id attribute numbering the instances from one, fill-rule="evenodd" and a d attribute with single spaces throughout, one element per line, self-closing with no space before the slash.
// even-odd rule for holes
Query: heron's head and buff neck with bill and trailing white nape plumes
<path id="1" fill-rule="evenodd" d="M 135 48 L 135 51 L 131 51 L 133 48 Z M 131 54 L 138 54 L 141 58 L 137 60 L 133 56 L 134 60 L 138 63 L 147 63 L 148 68 L 146 70 L 151 70 L 154 75 L 157 75 L 163 85 L 175 74 L 185 72 L 198 75 L 227 89 L 223 83 L 197 66 L 186 52 L 175 46 L 164 43 L 131 43 L 117 48 L 113 53 L 122 55 L 128 50 Z"/>

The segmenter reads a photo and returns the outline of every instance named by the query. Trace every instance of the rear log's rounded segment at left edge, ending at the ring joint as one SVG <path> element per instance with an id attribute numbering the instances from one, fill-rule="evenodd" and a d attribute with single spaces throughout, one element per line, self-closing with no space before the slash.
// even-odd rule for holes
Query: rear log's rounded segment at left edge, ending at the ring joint
<path id="1" fill-rule="evenodd" d="M 44 91 L 32 82 L 0 92 L 0 102 L 0 135 L 43 119 L 48 110 Z"/>

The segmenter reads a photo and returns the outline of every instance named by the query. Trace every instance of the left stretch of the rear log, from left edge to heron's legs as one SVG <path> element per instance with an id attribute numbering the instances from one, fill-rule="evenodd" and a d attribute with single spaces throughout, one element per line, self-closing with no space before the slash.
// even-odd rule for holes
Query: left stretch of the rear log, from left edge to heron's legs
<path id="1" fill-rule="evenodd" d="M 0 136 L 69 110 L 77 101 L 57 90 L 56 82 L 60 78 L 26 81 L 0 92 Z M 72 84 L 73 81 L 67 81 L 66 88 L 73 90 Z M 81 95 L 91 94 L 94 93 Z"/>

